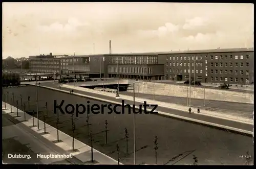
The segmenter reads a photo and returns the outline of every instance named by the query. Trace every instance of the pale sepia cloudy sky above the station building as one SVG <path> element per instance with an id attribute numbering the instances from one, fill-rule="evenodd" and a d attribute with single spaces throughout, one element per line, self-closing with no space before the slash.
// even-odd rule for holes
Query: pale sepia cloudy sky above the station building
<path id="1" fill-rule="evenodd" d="M 3 3 L 3 57 L 253 46 L 252 4 Z"/>

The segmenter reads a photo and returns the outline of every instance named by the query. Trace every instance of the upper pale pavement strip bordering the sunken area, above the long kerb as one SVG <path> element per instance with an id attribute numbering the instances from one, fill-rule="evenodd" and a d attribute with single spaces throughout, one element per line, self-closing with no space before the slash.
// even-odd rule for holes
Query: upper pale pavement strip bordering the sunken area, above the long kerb
<path id="1" fill-rule="evenodd" d="M 63 87 L 66 88 L 70 88 L 73 89 L 73 86 L 70 85 L 62 85 Z M 113 98 L 115 98 L 116 94 L 115 93 L 109 93 L 109 92 L 102 92 L 102 91 L 97 91 L 97 90 L 93 90 L 93 89 L 88 89 L 88 88 L 82 88 L 82 87 L 75 87 L 76 90 L 81 90 L 81 91 L 87 91 L 87 92 L 91 92 L 91 93 L 99 93 L 102 95 L 108 95 L 111 96 Z M 119 94 L 121 99 L 126 99 L 126 100 L 130 100 L 133 101 L 133 96 L 127 96 L 127 95 L 123 95 L 123 94 Z M 144 101 L 146 101 L 148 104 L 158 104 L 158 106 L 160 107 L 165 107 L 165 108 L 169 108 L 169 109 L 175 109 L 175 110 L 180 110 L 180 111 L 188 111 L 188 106 L 182 106 L 182 105 L 177 105 L 177 104 L 172 104 L 172 103 L 164 103 L 164 102 L 158 102 L 158 101 L 154 101 L 154 100 L 148 100 L 148 99 L 143 99 L 143 98 L 135 98 L 136 102 L 140 102 L 143 103 Z M 191 112 L 197 112 L 197 107 L 191 107 L 192 111 Z M 227 120 L 232 120 L 234 122 L 240 122 L 240 123 L 245 123 L 245 124 L 253 124 L 253 119 L 250 118 L 245 118 L 245 117 L 241 117 L 241 116 L 236 116 L 236 115 L 229 115 L 229 114 L 224 114 L 222 112 L 218 112 L 218 111 L 209 111 L 209 110 L 205 110 L 205 109 L 200 109 L 200 115 L 206 115 L 206 116 L 211 116 L 211 117 L 218 117 L 218 118 L 222 118 L 222 119 L 227 119 Z"/>

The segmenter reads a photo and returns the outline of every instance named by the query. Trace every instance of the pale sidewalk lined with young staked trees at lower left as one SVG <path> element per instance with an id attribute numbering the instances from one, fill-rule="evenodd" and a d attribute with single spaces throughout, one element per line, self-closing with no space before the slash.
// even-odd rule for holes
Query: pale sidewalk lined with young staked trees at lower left
<path id="1" fill-rule="evenodd" d="M 54 142 L 58 147 L 61 149 L 70 152 L 72 156 L 74 156 L 76 159 L 82 161 L 85 164 L 118 164 L 116 160 L 113 158 L 106 156 L 105 154 L 93 149 L 93 156 L 95 163 L 91 162 L 91 147 L 87 146 L 86 144 L 82 143 L 81 141 L 74 139 L 74 145 L 75 145 L 75 151 L 72 150 L 72 137 L 61 132 L 60 130 L 58 131 L 59 133 L 59 140 L 57 141 L 57 129 L 54 127 L 46 124 L 46 134 L 44 133 L 44 122 L 41 120 L 39 121 L 39 130 L 37 130 L 37 127 L 32 127 L 33 126 L 33 117 L 27 113 L 24 113 L 22 110 L 18 109 L 18 115 L 17 117 L 16 114 L 16 107 L 12 106 L 12 112 L 11 113 L 11 105 L 6 104 L 6 110 L 5 109 L 5 103 L 2 102 L 2 113 L 8 113 L 12 117 L 15 117 L 19 122 L 23 123 L 27 127 L 30 127 L 33 131 L 37 132 L 38 134 L 42 135 L 46 139 Z M 27 121 L 24 121 L 24 117 L 26 114 L 26 119 Z M 37 125 L 37 118 L 34 117 L 34 124 Z M 121 163 L 120 163 L 121 164 Z"/>

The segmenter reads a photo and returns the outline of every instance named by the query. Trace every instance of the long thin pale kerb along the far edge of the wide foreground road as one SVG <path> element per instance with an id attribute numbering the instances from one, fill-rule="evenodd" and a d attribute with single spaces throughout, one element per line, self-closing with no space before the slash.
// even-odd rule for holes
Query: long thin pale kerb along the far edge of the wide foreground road
<path id="1" fill-rule="evenodd" d="M 36 85 L 32 85 L 32 86 L 36 86 Z M 46 88 L 46 89 L 60 91 L 60 92 L 63 92 L 63 93 L 70 94 L 70 92 L 66 91 L 66 90 L 59 90 L 59 89 L 52 88 L 52 87 L 47 87 L 47 86 L 38 86 L 38 87 L 42 87 L 42 88 Z M 103 102 L 106 102 L 106 103 L 120 104 L 119 102 L 114 102 L 114 101 L 111 101 L 111 100 L 104 100 L 104 99 L 96 98 L 94 96 L 83 95 L 83 94 L 80 94 L 80 93 L 74 93 L 74 95 L 81 96 L 82 98 L 90 98 L 90 99 L 96 100 L 96 101 L 103 101 Z M 138 106 L 136 106 L 136 108 L 139 109 Z M 148 110 L 152 110 L 152 109 L 148 109 Z M 205 121 L 194 119 L 194 118 L 179 116 L 179 115 L 160 112 L 160 111 L 158 112 L 158 114 L 155 114 L 155 115 L 166 116 L 166 117 L 169 117 L 169 118 L 179 119 L 179 120 L 182 120 L 182 121 L 185 121 L 185 122 L 195 123 L 195 124 L 202 125 L 202 126 L 207 126 L 207 127 L 211 127 L 211 128 L 216 128 L 216 129 L 220 129 L 220 130 L 229 131 L 229 132 L 236 133 L 236 134 L 247 135 L 247 136 L 253 137 L 253 132 L 251 132 L 251 131 L 242 130 L 242 129 L 238 129 L 238 128 L 232 128 L 232 127 L 229 127 L 229 126 L 218 125 L 218 124 L 214 124 L 214 123 L 209 123 L 209 122 L 205 122 Z"/>

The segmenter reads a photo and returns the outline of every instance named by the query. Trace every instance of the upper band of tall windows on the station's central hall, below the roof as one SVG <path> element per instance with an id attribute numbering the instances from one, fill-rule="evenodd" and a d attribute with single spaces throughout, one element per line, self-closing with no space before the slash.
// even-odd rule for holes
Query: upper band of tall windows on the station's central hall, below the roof
<path id="1" fill-rule="evenodd" d="M 111 57 L 113 64 L 157 64 L 157 56 Z"/>

